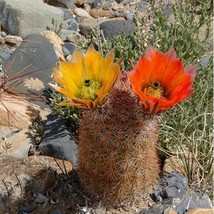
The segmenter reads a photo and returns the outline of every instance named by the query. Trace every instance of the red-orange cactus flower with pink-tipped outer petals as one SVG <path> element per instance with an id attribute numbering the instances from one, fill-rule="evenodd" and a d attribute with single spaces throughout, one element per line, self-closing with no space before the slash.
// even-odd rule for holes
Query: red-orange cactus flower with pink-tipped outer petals
<path id="1" fill-rule="evenodd" d="M 151 114 L 166 111 L 188 99 L 194 91 L 195 75 L 196 68 L 184 68 L 173 49 L 162 53 L 152 47 L 128 74 L 132 90 Z"/>

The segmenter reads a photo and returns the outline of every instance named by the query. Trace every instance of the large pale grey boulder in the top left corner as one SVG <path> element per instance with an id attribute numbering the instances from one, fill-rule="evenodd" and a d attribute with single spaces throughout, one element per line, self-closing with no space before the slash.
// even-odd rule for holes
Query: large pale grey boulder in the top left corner
<path id="1" fill-rule="evenodd" d="M 0 20 L 8 33 L 27 36 L 63 23 L 63 12 L 38 0 L 0 0 Z"/>

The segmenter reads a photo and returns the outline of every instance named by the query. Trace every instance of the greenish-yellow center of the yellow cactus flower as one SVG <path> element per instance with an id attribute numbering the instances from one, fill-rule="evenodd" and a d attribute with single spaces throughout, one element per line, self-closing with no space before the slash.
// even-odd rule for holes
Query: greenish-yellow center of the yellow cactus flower
<path id="1" fill-rule="evenodd" d="M 97 90 L 99 90 L 100 87 L 101 83 L 87 79 L 77 91 L 76 96 L 79 99 L 95 100 L 97 98 Z"/>

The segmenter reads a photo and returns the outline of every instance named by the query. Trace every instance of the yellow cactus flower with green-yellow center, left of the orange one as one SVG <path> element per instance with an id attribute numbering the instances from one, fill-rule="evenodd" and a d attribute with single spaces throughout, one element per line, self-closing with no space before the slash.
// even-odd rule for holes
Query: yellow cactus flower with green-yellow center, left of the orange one
<path id="1" fill-rule="evenodd" d="M 114 63 L 114 53 L 102 57 L 93 46 L 86 55 L 74 51 L 71 62 L 60 62 L 53 75 L 59 85 L 50 84 L 67 100 L 61 106 L 93 109 L 101 105 L 120 74 L 119 63 Z"/>

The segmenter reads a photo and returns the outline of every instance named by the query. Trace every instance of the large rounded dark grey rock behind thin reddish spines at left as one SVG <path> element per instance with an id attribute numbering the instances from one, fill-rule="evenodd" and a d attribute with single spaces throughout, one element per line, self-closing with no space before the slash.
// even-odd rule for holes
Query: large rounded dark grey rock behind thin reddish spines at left
<path id="1" fill-rule="evenodd" d="M 52 81 L 52 68 L 58 62 L 54 48 L 51 43 L 42 35 L 31 34 L 24 38 L 24 42 L 14 51 L 13 55 L 3 63 L 7 69 L 13 88 L 21 94 L 31 95 L 37 100 L 34 103 L 45 106 L 44 102 L 38 102 L 48 83 Z M 30 91 L 30 92 L 29 92 Z"/>

